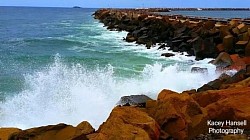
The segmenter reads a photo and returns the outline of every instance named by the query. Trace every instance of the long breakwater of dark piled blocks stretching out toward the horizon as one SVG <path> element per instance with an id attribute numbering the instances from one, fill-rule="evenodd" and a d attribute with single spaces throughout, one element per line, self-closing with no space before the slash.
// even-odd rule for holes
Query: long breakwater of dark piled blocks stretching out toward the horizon
<path id="1" fill-rule="evenodd" d="M 187 52 L 196 60 L 217 58 L 221 52 L 238 55 L 245 63 L 250 57 L 247 19 L 168 16 L 138 9 L 100 9 L 93 15 L 110 30 L 128 31 L 127 42 L 145 44 L 148 49 L 160 43 L 159 49 Z"/>

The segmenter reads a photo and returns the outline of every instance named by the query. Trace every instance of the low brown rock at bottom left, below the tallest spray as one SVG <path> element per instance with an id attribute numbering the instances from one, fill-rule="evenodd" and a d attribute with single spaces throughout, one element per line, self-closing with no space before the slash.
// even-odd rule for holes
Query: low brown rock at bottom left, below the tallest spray
<path id="1" fill-rule="evenodd" d="M 93 127 L 84 121 L 77 127 L 58 124 L 18 131 L 9 135 L 9 140 L 87 140 L 86 135 L 93 132 Z"/>

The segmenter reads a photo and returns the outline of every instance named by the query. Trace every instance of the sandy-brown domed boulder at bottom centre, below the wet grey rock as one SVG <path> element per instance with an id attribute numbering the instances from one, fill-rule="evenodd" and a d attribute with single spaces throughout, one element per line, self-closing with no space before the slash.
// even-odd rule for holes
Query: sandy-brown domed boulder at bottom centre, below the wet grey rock
<path id="1" fill-rule="evenodd" d="M 96 139 L 159 139 L 160 127 L 147 113 L 135 107 L 115 107 L 109 118 L 88 138 Z"/>

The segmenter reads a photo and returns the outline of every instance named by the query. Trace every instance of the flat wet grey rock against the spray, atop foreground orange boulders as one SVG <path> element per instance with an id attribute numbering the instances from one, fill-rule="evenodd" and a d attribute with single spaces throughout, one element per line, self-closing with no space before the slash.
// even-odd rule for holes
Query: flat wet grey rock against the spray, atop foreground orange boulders
<path id="1" fill-rule="evenodd" d="M 120 106 L 140 106 L 145 107 L 146 102 L 148 100 L 152 100 L 146 95 L 130 95 L 130 96 L 123 96 L 117 103 Z"/>

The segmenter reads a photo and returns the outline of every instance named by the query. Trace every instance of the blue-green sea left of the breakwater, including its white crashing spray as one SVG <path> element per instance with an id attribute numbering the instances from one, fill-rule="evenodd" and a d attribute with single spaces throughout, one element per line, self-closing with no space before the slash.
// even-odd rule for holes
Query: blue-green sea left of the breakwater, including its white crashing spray
<path id="1" fill-rule="evenodd" d="M 0 127 L 102 124 L 120 97 L 198 88 L 211 59 L 146 49 L 92 17 L 96 9 L 0 7 Z M 191 73 L 206 67 L 207 74 Z"/>

